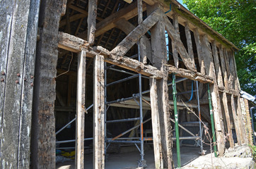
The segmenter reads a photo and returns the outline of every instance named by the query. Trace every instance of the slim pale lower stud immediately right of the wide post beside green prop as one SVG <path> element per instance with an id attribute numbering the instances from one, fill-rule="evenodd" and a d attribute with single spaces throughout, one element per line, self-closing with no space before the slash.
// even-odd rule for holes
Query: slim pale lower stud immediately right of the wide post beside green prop
<path id="1" fill-rule="evenodd" d="M 232 134 L 232 127 L 231 127 L 231 117 L 229 115 L 228 111 L 228 99 L 226 96 L 226 92 L 223 92 L 222 94 L 222 103 L 223 103 L 223 108 L 224 108 L 224 113 L 226 117 L 226 123 L 227 123 L 227 130 L 228 130 L 228 141 L 230 144 L 230 148 L 234 149 L 234 140 L 233 140 L 233 134 Z"/>

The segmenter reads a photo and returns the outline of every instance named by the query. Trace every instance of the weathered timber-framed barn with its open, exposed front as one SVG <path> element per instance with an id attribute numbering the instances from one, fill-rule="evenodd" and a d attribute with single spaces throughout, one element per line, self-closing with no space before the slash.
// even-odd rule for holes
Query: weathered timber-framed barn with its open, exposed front
<path id="1" fill-rule="evenodd" d="M 105 168 L 124 144 L 140 167 L 151 145 L 155 168 L 173 168 L 173 147 L 180 167 L 184 144 L 223 156 L 252 142 L 238 48 L 178 1 L 3 0 L 0 13 L 0 168 L 55 168 L 56 149 Z"/>

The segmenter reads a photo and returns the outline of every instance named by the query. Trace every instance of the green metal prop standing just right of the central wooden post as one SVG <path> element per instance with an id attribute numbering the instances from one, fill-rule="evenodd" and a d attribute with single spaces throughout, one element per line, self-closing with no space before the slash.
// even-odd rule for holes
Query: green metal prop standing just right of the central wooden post
<path id="1" fill-rule="evenodd" d="M 173 106 L 174 106 L 174 116 L 175 116 L 175 134 L 176 134 L 176 148 L 177 148 L 177 159 L 178 159 L 178 168 L 181 167 L 180 163 L 180 139 L 179 139 L 179 118 L 177 111 L 177 91 L 175 83 L 175 74 L 173 74 Z"/>

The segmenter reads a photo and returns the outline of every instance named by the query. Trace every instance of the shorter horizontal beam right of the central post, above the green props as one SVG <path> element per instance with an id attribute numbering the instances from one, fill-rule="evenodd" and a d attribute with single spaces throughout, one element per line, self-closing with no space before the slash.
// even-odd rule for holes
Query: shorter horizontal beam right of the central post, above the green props
<path id="1" fill-rule="evenodd" d="M 214 84 L 214 80 L 212 77 L 208 75 L 203 75 L 202 73 L 192 72 L 191 70 L 186 70 L 183 68 L 176 68 L 174 65 L 166 65 L 168 68 L 168 73 L 175 73 L 180 77 L 186 77 L 190 80 L 197 80 L 202 83 L 211 83 Z"/>

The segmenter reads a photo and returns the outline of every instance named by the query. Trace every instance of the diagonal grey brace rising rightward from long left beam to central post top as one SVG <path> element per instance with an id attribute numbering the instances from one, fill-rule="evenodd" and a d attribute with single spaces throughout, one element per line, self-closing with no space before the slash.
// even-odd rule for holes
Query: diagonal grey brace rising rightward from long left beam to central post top
<path id="1" fill-rule="evenodd" d="M 141 24 L 139 24 L 127 37 L 125 37 L 120 44 L 118 44 L 115 49 L 112 49 L 111 54 L 116 56 L 124 56 L 124 54 L 129 51 L 129 49 L 138 42 L 141 38 L 153 25 L 158 22 L 160 11 L 156 10 L 151 15 L 148 16 Z"/>

